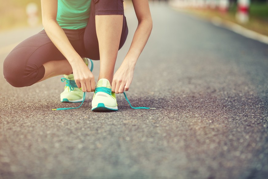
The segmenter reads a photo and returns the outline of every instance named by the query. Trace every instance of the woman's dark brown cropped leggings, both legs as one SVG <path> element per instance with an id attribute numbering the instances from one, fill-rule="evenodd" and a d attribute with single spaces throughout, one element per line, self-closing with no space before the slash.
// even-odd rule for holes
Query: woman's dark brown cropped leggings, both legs
<path id="1" fill-rule="evenodd" d="M 82 57 L 99 60 L 99 43 L 95 15 L 123 15 L 119 49 L 126 41 L 128 28 L 124 16 L 123 0 L 92 0 L 87 26 L 83 29 L 63 29 L 76 52 Z M 3 73 L 6 81 L 15 87 L 31 86 L 44 77 L 44 63 L 66 59 L 51 42 L 45 30 L 27 38 L 6 57 Z"/>

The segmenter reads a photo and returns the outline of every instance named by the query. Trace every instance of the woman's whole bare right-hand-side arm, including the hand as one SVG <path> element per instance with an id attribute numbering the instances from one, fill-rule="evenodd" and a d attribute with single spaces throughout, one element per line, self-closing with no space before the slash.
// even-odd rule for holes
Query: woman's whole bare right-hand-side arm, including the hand
<path id="1" fill-rule="evenodd" d="M 138 27 L 134 33 L 130 49 L 121 66 L 115 72 L 112 82 L 112 92 L 123 93 L 128 91 L 133 80 L 136 62 L 151 34 L 153 22 L 148 0 L 132 0 L 138 19 Z"/>

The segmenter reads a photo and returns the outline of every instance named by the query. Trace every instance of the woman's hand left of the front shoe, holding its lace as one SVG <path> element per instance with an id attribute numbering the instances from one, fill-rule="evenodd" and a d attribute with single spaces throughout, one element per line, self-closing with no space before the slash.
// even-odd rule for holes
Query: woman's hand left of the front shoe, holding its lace
<path id="1" fill-rule="evenodd" d="M 87 65 L 81 59 L 72 65 L 73 76 L 78 88 L 83 92 L 93 92 L 95 90 L 95 79 Z"/>

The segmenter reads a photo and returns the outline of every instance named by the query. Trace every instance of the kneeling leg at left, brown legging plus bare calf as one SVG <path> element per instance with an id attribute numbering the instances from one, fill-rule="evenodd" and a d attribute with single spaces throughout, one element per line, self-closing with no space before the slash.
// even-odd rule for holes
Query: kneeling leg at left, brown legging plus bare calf
<path id="1" fill-rule="evenodd" d="M 72 41 L 77 49 L 81 49 L 80 53 L 84 48 L 84 30 L 81 31 L 80 39 Z M 77 38 L 77 35 L 74 37 Z M 4 61 L 3 73 L 6 81 L 12 86 L 24 87 L 60 74 L 70 74 L 72 68 L 42 30 L 10 52 Z"/>

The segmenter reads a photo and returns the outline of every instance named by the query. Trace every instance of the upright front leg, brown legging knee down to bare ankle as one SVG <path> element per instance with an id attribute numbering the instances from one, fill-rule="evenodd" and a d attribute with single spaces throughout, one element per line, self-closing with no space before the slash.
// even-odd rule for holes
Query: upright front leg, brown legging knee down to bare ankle
<path id="1" fill-rule="evenodd" d="M 91 1 L 84 43 L 88 58 L 100 59 L 99 79 L 112 82 L 115 60 L 128 34 L 122 0 Z"/>

